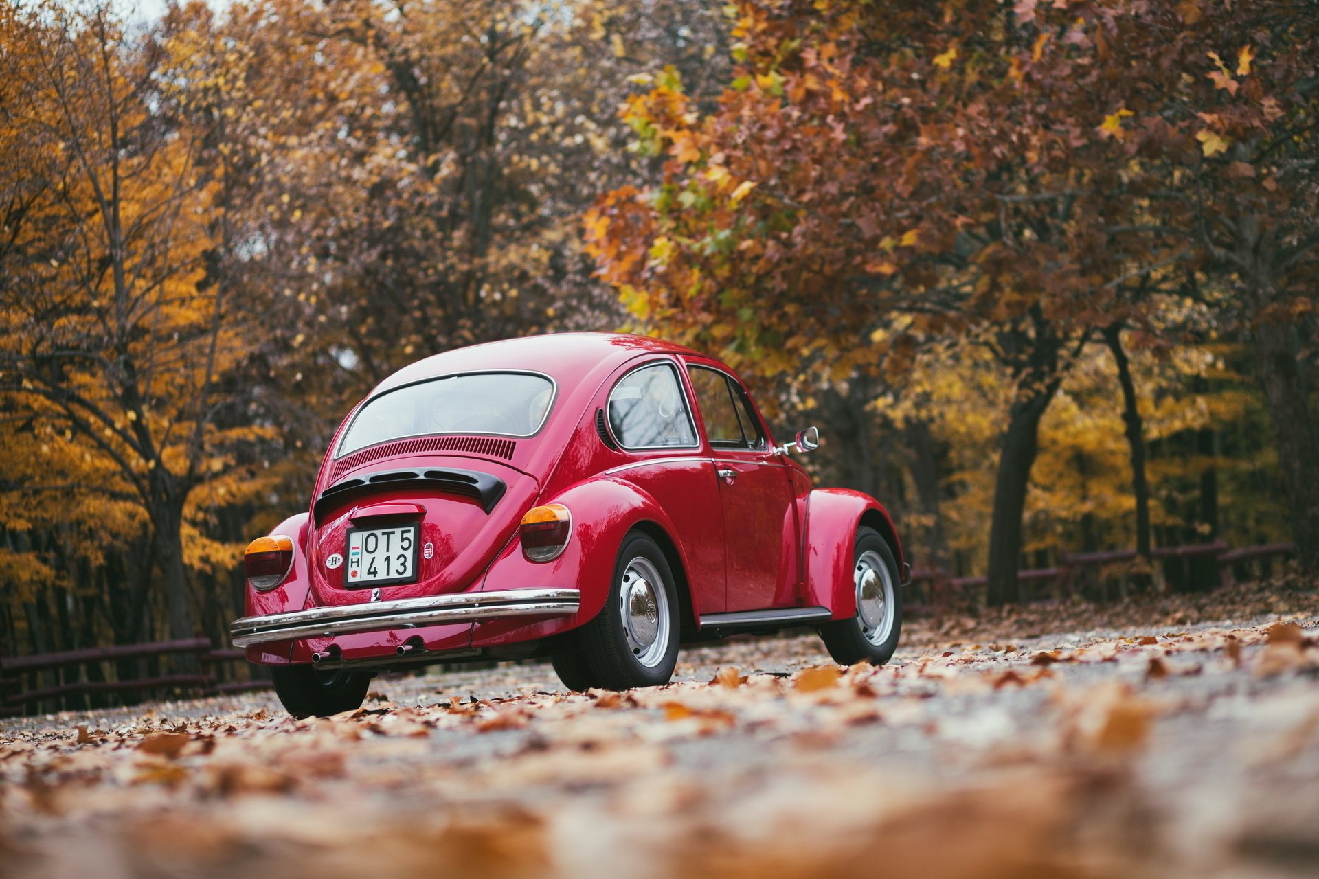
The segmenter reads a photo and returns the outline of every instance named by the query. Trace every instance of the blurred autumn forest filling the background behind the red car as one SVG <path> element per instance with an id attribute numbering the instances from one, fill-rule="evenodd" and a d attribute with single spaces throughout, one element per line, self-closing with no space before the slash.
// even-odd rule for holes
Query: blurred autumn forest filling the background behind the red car
<path id="1" fill-rule="evenodd" d="M 1316 109 L 1308 0 L 0 0 L 0 654 L 226 643 L 353 402 L 574 329 L 720 353 L 991 604 L 1312 572 Z"/>

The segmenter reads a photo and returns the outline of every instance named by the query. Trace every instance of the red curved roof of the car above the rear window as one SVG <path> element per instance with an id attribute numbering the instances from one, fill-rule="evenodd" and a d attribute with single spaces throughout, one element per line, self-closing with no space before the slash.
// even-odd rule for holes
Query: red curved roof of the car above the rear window
<path id="1" fill-rule="evenodd" d="M 671 341 L 628 333 L 559 332 L 521 336 L 454 348 L 418 360 L 376 385 L 371 397 L 427 378 L 488 370 L 525 369 L 545 373 L 557 382 L 574 382 L 601 366 L 612 370 L 616 365 L 646 353 L 703 356 Z"/>

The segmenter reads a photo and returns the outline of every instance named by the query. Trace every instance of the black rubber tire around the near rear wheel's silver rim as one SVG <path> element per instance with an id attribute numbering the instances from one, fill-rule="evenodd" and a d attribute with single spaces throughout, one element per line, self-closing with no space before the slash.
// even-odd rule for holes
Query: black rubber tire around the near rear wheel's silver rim
<path id="1" fill-rule="evenodd" d="M 638 560 L 642 560 L 642 567 L 649 567 L 658 575 L 661 581 L 650 584 L 654 589 L 652 594 L 658 597 L 660 589 L 662 589 L 663 597 L 662 608 L 660 601 L 654 601 L 656 619 L 653 622 L 658 631 L 654 640 L 650 642 L 656 644 L 653 664 L 645 664 L 637 658 L 641 651 L 629 644 L 629 629 L 623 615 L 624 577 L 629 575 L 633 564 Z M 591 622 L 582 626 L 578 634 L 579 655 L 591 683 L 603 689 L 667 684 L 678 664 L 678 589 L 674 585 L 669 560 L 660 544 L 641 531 L 633 531 L 623 539 L 623 546 L 619 547 L 619 559 L 613 565 L 613 581 L 609 584 L 609 594 L 604 601 L 604 608 Z M 649 654 L 648 648 L 642 656 Z"/>

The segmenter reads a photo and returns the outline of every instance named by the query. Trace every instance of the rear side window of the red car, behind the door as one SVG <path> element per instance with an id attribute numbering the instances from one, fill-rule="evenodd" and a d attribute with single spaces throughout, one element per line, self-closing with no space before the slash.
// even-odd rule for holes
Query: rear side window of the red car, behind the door
<path id="1" fill-rule="evenodd" d="M 609 430 L 628 449 L 694 447 L 696 428 L 670 364 L 634 369 L 609 391 Z"/>

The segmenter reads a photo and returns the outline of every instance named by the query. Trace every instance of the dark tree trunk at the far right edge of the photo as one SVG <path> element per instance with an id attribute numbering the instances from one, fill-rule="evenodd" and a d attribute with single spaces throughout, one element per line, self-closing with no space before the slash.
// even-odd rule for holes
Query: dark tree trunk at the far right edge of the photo
<path id="1" fill-rule="evenodd" d="M 1319 430 L 1297 364 L 1291 327 L 1261 322 L 1256 328 L 1256 354 L 1278 445 L 1297 555 L 1303 571 L 1319 573 Z"/>

